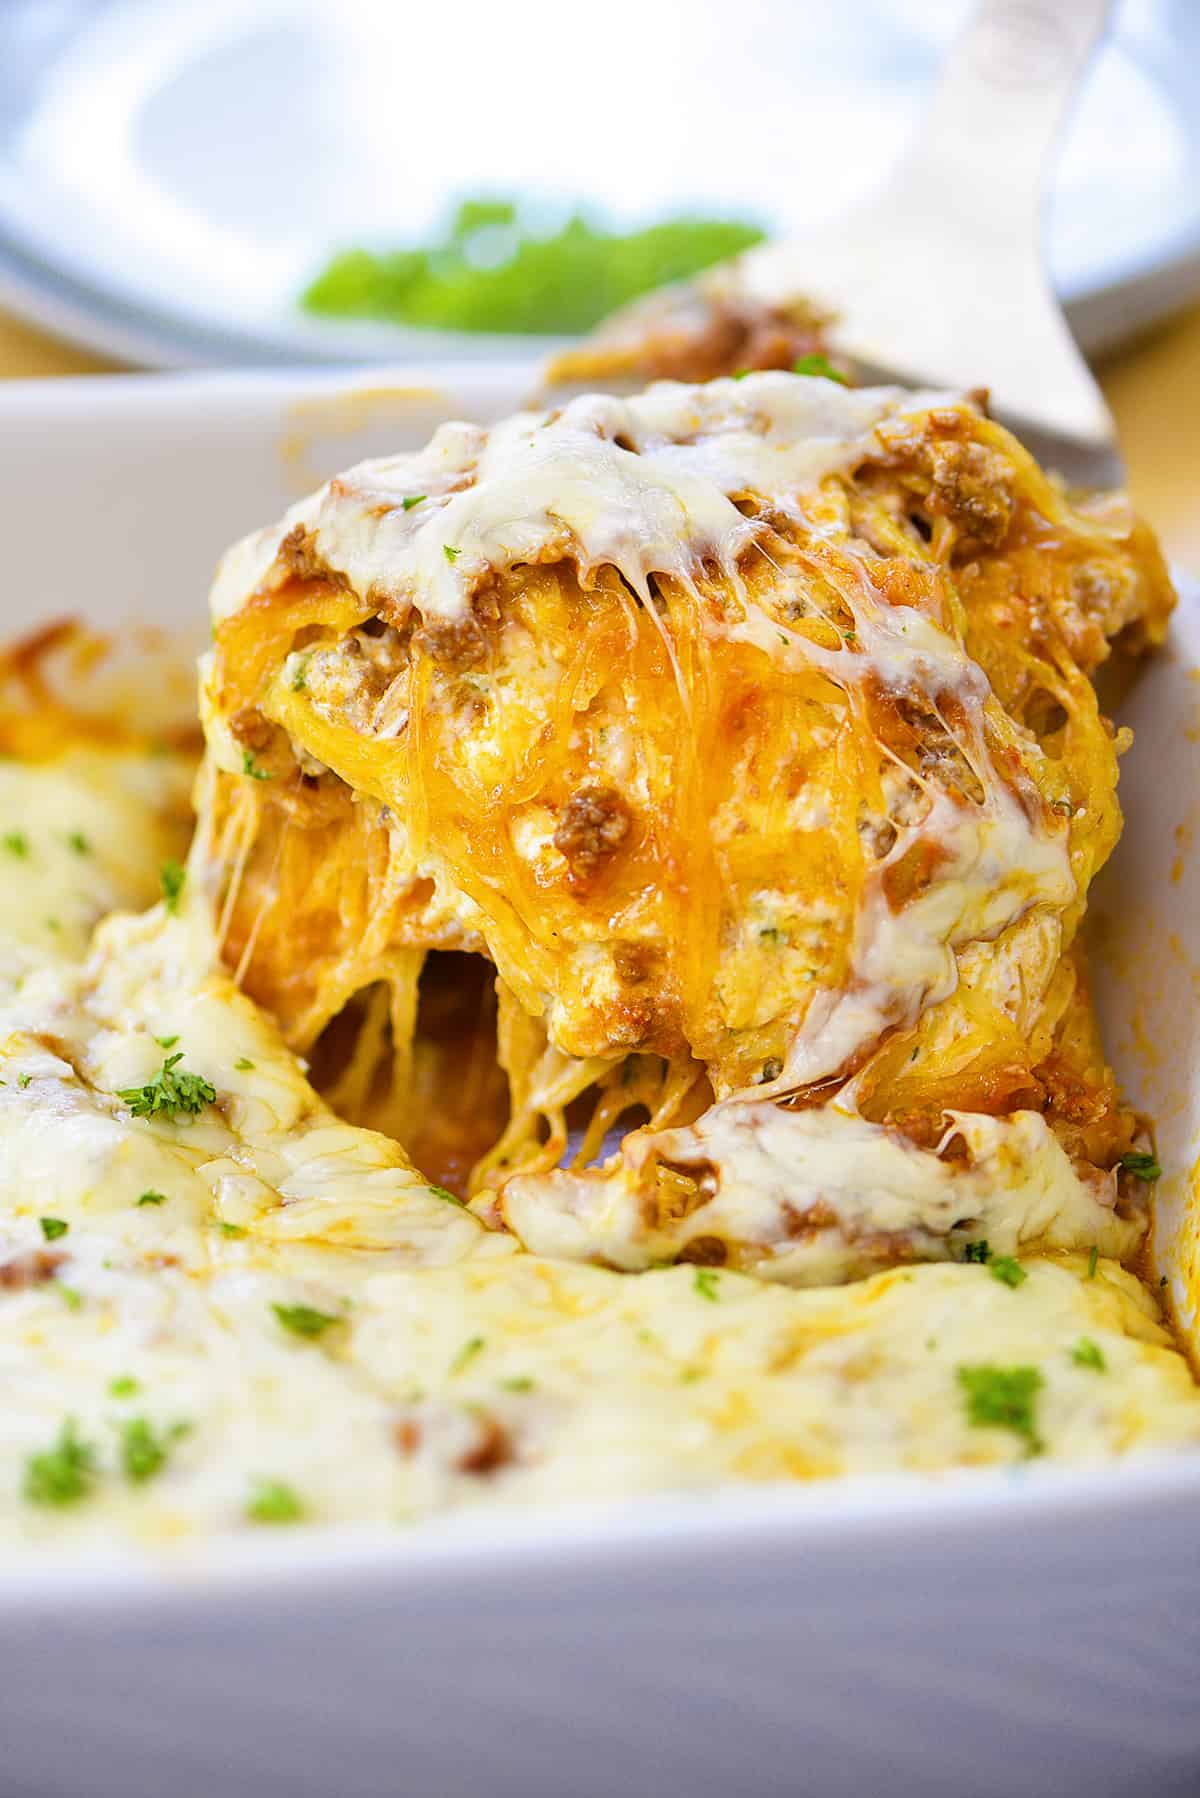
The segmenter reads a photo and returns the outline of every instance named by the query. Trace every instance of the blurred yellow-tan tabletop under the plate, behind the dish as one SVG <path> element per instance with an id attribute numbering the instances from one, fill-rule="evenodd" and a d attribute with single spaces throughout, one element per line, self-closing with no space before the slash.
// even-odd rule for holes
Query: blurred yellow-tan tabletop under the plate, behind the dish
<path id="1" fill-rule="evenodd" d="M 0 313 L 0 378 L 113 367 Z M 1168 557 L 1200 574 L 1200 306 L 1123 351 L 1099 376 L 1135 503 Z"/>

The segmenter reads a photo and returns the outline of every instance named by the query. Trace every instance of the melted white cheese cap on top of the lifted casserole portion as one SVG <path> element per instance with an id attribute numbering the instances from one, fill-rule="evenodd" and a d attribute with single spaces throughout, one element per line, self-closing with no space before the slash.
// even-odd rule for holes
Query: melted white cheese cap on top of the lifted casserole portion
<path id="1" fill-rule="evenodd" d="M 426 619 L 461 619 L 491 570 L 560 556 L 585 575 L 619 568 L 644 597 L 651 574 L 691 581 L 705 557 L 732 575 L 757 536 L 736 496 L 792 511 L 797 493 L 862 460 L 883 419 L 946 397 L 752 374 L 662 381 L 633 399 L 585 394 L 491 432 L 443 424 L 425 450 L 360 462 L 239 543 L 212 613 L 241 608 L 297 527 L 354 592 Z"/>

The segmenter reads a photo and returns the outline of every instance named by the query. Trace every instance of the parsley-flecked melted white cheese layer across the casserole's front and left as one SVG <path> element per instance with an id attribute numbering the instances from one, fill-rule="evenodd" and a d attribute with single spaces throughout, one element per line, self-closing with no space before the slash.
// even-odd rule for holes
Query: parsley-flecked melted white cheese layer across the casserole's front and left
<path id="1" fill-rule="evenodd" d="M 126 854 L 153 879 L 153 829 Z M 99 901 L 101 858 L 79 867 Z M 32 877 L 56 890 L 50 858 Z M 133 1117 L 121 1091 L 167 1043 L 216 1102 Z M 169 1548 L 250 1528 L 263 1482 L 311 1521 L 408 1521 L 1018 1460 L 1027 1438 L 968 1415 L 957 1368 L 979 1363 L 1038 1370 L 1033 1424 L 1060 1460 L 1200 1442 L 1187 1366 L 1108 1259 L 1094 1277 L 1083 1255 L 1029 1259 L 1018 1289 L 941 1264 L 795 1291 L 691 1266 L 631 1277 L 563 1259 L 576 1246 L 561 1241 L 520 1250 L 322 1106 L 218 971 L 198 903 L 110 921 L 83 964 L 27 967 L 0 996 L 0 1537 L 18 1555 L 65 1532 Z M 1031 1217 L 1052 1246 L 1063 1217 L 1078 1226 L 1072 1206 L 1103 1206 L 1070 1185 L 1040 1118 L 955 1120 L 972 1170 L 954 1174 L 860 1120 L 718 1106 L 707 1149 L 736 1149 L 729 1203 L 770 1203 L 775 1138 L 795 1126 L 826 1197 L 862 1212 L 882 1192 L 889 1226 L 943 1230 L 966 1190 L 995 1246 L 1016 1250 Z M 851 1163 L 871 1194 L 855 1199 Z M 67 1230 L 47 1241 L 43 1217 Z M 275 1307 L 331 1322 L 297 1334 Z M 67 1417 L 92 1485 L 43 1509 L 25 1469 Z M 122 1456 L 131 1420 L 166 1456 L 140 1482 Z"/>

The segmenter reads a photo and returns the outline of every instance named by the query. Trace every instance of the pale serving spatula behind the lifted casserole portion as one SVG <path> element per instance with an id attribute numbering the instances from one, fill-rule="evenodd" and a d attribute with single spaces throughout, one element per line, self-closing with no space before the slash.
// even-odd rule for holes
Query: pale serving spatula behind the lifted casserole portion
<path id="1" fill-rule="evenodd" d="M 754 298 L 829 311 L 867 379 L 988 387 L 1042 462 L 1092 487 L 1124 469 L 1045 270 L 1042 196 L 1110 13 L 1112 0 L 982 0 L 883 189 L 837 227 L 730 264 Z"/>

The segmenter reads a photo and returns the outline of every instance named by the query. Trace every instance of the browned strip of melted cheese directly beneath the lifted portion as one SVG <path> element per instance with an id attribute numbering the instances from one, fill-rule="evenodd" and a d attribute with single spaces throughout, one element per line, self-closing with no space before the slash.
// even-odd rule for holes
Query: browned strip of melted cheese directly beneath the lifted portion
<path id="1" fill-rule="evenodd" d="M 829 1286 L 882 1260 L 948 1260 L 1097 1244 L 1137 1250 L 1112 1174 L 1078 1172 L 1040 1111 L 950 1113 L 966 1162 L 918 1149 L 842 1104 L 811 1111 L 723 1100 L 685 1129 L 630 1136 L 606 1170 L 516 1178 L 500 1205 L 534 1251 L 642 1269 L 714 1241 L 759 1278 Z M 667 1169 L 667 1194 L 655 1187 Z M 694 1192 L 678 1188 L 693 1176 Z"/>

